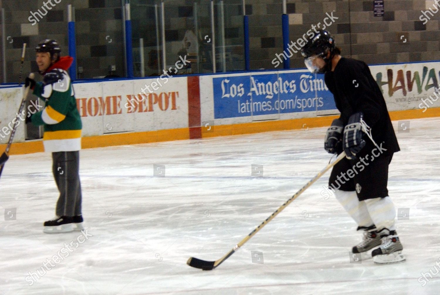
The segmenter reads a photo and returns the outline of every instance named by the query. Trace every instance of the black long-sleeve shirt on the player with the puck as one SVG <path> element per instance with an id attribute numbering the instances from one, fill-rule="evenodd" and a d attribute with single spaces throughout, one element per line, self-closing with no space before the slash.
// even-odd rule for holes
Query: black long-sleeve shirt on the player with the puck
<path id="1" fill-rule="evenodd" d="M 347 125 L 352 114 L 362 112 L 363 120 L 371 127 L 374 141 L 378 146 L 382 144 L 387 149 L 384 154 L 400 150 L 385 99 L 365 62 L 341 58 L 334 72 L 326 72 L 324 79 L 334 95 L 336 107 L 341 112 L 340 120 L 344 125 Z M 364 139 L 367 144 L 359 156 L 371 154 L 375 147 L 367 135 Z"/>

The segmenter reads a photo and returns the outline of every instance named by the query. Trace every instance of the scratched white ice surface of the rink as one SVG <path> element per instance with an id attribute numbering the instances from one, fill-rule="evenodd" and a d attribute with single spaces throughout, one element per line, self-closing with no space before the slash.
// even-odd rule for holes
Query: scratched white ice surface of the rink
<path id="1" fill-rule="evenodd" d="M 187 266 L 220 259 L 326 166 L 326 128 L 305 127 L 82 150 L 87 239 L 42 232 L 58 197 L 50 154 L 11 156 L 0 178 L 0 294 L 440 294 L 440 119 L 406 124 L 388 185 L 406 262 L 350 263 L 361 233 L 321 195 L 327 172 L 218 268 Z"/>

